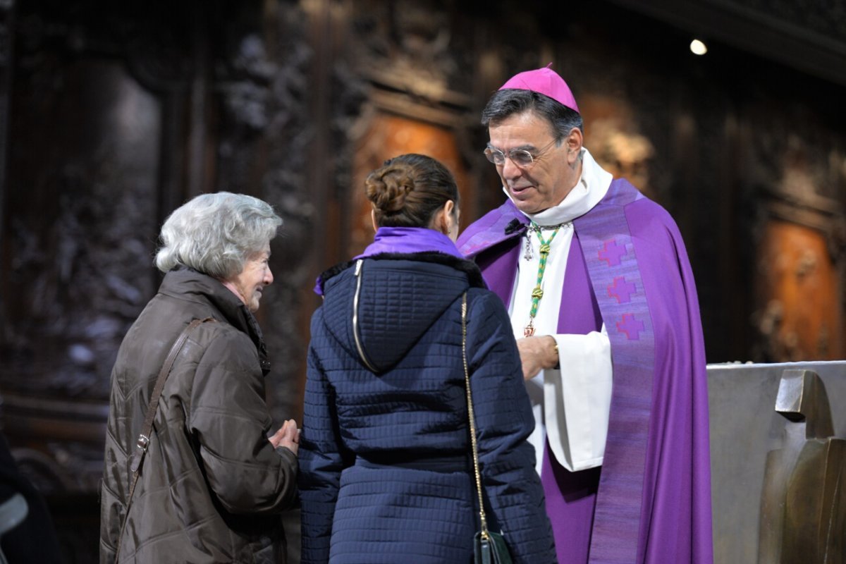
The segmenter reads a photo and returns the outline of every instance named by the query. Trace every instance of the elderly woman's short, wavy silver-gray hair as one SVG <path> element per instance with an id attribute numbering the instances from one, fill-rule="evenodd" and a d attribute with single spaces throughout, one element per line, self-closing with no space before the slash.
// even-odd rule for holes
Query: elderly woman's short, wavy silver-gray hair
<path id="1" fill-rule="evenodd" d="M 180 206 L 162 225 L 156 266 L 182 265 L 219 280 L 244 270 L 251 255 L 276 236 L 282 218 L 270 204 L 245 194 L 201 194 Z"/>

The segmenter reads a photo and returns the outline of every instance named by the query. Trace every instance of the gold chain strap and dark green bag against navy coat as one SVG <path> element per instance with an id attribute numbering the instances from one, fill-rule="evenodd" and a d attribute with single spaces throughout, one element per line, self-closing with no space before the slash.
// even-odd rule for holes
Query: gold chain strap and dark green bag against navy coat
<path id="1" fill-rule="evenodd" d="M 476 445 L 475 415 L 473 413 L 473 394 L 470 392 L 470 370 L 467 368 L 467 293 L 461 297 L 461 356 L 464 359 L 464 384 L 467 388 L 467 418 L 470 420 L 470 445 L 473 448 L 473 469 L 475 470 L 476 491 L 479 493 L 479 521 L 481 528 L 473 537 L 473 555 L 475 564 L 511 564 L 508 545 L 502 534 L 487 530 L 485 502 L 481 493 L 481 473 L 479 472 L 479 448 Z"/>

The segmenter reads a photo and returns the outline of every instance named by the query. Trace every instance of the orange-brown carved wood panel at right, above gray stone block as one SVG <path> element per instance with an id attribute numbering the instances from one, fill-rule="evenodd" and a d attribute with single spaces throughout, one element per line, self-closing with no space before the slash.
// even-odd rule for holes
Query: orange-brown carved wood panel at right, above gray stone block
<path id="1" fill-rule="evenodd" d="M 846 162 L 837 134 L 821 123 L 799 132 L 800 115 L 754 114 L 750 171 L 761 188 L 754 234 L 757 339 L 753 359 L 842 359 L 846 354 Z M 796 112 L 797 114 L 799 112 Z"/>

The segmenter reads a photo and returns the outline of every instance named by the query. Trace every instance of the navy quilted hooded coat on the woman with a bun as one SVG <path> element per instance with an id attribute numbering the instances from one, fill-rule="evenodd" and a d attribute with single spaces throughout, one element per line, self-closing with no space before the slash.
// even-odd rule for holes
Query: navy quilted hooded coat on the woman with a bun
<path id="1" fill-rule="evenodd" d="M 466 292 L 488 523 L 515 562 L 554 562 L 511 324 L 476 266 L 440 253 L 376 255 L 323 280 L 299 446 L 302 561 L 472 561 L 479 513 L 461 352 Z"/>

